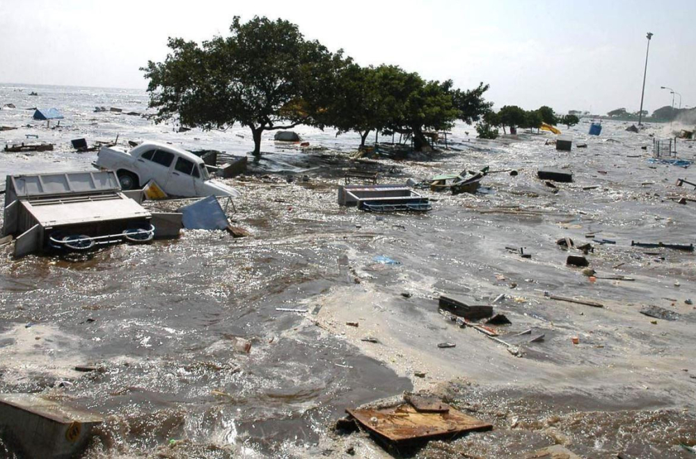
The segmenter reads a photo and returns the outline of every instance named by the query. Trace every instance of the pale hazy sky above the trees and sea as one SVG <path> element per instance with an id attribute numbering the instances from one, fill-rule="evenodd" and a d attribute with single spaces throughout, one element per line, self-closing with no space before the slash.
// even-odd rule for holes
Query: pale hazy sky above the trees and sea
<path id="1" fill-rule="evenodd" d="M 232 17 L 281 17 L 361 65 L 386 63 L 495 108 L 638 111 L 696 106 L 696 1 L 0 0 L 0 83 L 145 88 L 168 37 L 227 35 Z M 679 96 L 675 99 L 679 106 Z"/>

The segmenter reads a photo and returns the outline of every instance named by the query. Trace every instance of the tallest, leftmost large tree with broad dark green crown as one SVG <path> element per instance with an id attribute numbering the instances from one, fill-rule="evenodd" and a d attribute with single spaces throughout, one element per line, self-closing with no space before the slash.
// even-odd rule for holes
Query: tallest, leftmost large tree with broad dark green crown
<path id="1" fill-rule="evenodd" d="M 264 131 L 323 127 L 317 114 L 329 105 L 338 72 L 349 63 L 342 52 L 306 40 L 283 19 L 254 17 L 242 24 L 235 17 L 230 32 L 202 45 L 171 38 L 165 61 L 142 69 L 157 122 L 174 118 L 203 129 L 239 122 L 251 129 L 257 155 Z"/>

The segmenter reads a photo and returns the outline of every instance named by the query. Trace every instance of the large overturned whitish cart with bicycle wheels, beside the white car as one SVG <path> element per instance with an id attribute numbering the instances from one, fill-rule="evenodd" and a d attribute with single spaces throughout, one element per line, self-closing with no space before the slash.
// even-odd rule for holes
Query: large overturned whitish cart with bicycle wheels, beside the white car
<path id="1" fill-rule="evenodd" d="M 15 257 L 143 243 L 155 236 L 153 214 L 125 195 L 116 172 L 107 170 L 10 175 L 4 217 L 3 236 L 16 237 Z"/>

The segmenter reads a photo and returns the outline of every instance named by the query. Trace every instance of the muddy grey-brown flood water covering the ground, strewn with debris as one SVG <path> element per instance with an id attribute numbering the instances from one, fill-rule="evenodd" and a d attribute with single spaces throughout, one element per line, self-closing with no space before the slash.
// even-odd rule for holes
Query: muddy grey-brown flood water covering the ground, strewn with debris
<path id="1" fill-rule="evenodd" d="M 17 108 L 0 111 L 0 125 L 22 128 L 1 131 L 0 143 L 35 134 L 56 150 L 3 154 L 2 176 L 88 170 L 95 153 L 70 149 L 79 137 L 232 154 L 252 146 L 241 127 L 177 133 L 136 115 L 93 113 L 95 106 L 145 113 L 147 96 L 137 90 L 0 86 L 0 106 L 10 102 Z M 61 109 L 61 127 L 31 120 L 26 108 L 34 106 Z M 674 184 L 696 177 L 692 167 L 651 162 L 649 134 L 668 136 L 669 127 L 633 134 L 606 122 L 591 137 L 586 121 L 569 129 L 570 153 L 545 145 L 555 138 L 549 133 L 484 141 L 458 125 L 450 149 L 432 159 L 360 165 L 379 170 L 383 183 L 484 166 L 519 172 L 488 175 L 476 195 L 422 190 L 433 200 L 427 214 L 339 207 L 336 188 L 356 167 L 347 153 L 358 137 L 299 127 L 308 149 L 267 133 L 269 154 L 226 181 L 242 192 L 231 217 L 249 238 L 184 230 L 175 241 L 118 245 L 81 261 L 13 260 L 6 245 L 0 392 L 41 392 L 103 414 L 88 458 L 339 458 L 348 446 L 356 457 L 385 457 L 369 438 L 335 437 L 331 421 L 413 388 L 436 390 L 495 426 L 432 442 L 411 452 L 416 457 L 514 458 L 553 443 L 587 458 L 689 457 L 679 443 L 696 442 L 696 311 L 686 301 L 696 300 L 695 258 L 631 241 L 695 242 L 696 202 L 670 198 L 694 198 Z M 696 152 L 688 142 L 678 151 L 690 160 Z M 540 166 L 569 170 L 574 182 L 550 188 L 536 177 Z M 559 248 L 562 237 L 594 246 L 587 255 L 594 282 L 565 266 L 580 252 Z M 379 255 L 399 264 L 379 264 Z M 601 278 L 610 275 L 635 280 Z M 605 307 L 553 301 L 544 291 Z M 545 339 L 514 357 L 443 321 L 440 293 L 478 304 L 503 293 L 496 312 L 512 325 L 501 336 L 532 329 Z M 651 323 L 638 313 L 645 305 L 680 318 Z M 367 336 L 379 342 L 362 341 Z M 457 347 L 437 348 L 445 341 Z M 81 364 L 100 371 L 74 371 Z M 415 376 L 421 372 L 425 378 Z M 14 457 L 5 444 L 0 451 Z"/>

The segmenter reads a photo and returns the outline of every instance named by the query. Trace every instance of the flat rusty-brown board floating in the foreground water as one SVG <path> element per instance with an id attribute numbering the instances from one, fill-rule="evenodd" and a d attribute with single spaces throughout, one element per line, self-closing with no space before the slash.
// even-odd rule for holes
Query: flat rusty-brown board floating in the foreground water
<path id="1" fill-rule="evenodd" d="M 419 412 L 413 405 L 402 403 L 388 408 L 346 410 L 359 424 L 391 442 L 432 440 L 471 431 L 491 430 L 493 426 L 475 417 L 454 410 Z"/>

